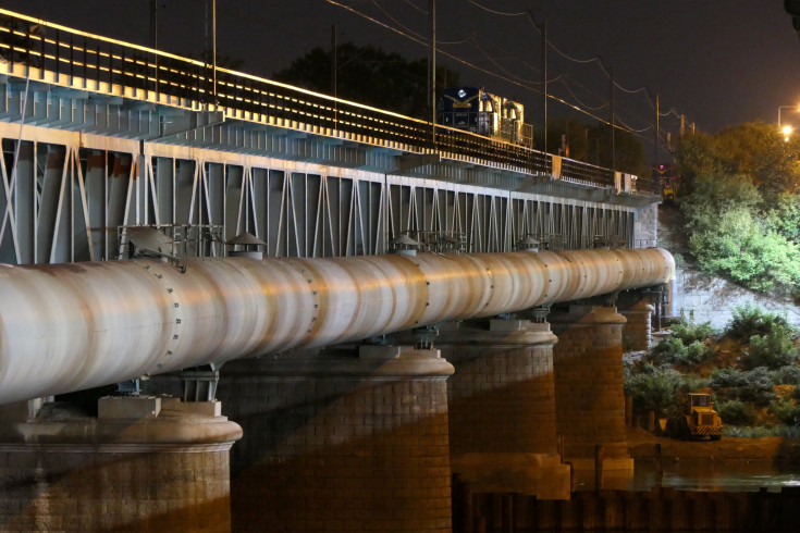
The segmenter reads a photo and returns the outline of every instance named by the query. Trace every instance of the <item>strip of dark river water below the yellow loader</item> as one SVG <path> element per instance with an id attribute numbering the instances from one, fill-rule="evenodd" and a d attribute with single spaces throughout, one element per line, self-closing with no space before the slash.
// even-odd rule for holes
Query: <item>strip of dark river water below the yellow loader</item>
<path id="1" fill-rule="evenodd" d="M 653 463 L 637 462 L 632 474 L 605 473 L 603 488 L 650 491 L 661 484 L 678 491 L 755 492 L 800 486 L 800 467 L 777 469 L 768 462 L 709 463 L 684 461 L 664 464 L 659 476 Z M 576 491 L 594 489 L 594 472 L 575 473 Z"/>

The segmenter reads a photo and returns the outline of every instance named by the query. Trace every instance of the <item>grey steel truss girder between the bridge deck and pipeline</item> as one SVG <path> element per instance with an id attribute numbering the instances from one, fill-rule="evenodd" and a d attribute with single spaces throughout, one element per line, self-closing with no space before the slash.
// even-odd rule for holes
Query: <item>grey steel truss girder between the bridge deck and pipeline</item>
<path id="1" fill-rule="evenodd" d="M 272 257 L 381 253 L 403 232 L 460 233 L 472 252 L 512 250 L 527 234 L 570 248 L 633 238 L 631 208 L 469 181 L 8 123 L 0 137 L 0 262 L 113 259 L 118 228 L 143 224 L 209 224 L 225 239 L 248 231 Z M 602 223 L 577 216 L 590 212 Z"/>

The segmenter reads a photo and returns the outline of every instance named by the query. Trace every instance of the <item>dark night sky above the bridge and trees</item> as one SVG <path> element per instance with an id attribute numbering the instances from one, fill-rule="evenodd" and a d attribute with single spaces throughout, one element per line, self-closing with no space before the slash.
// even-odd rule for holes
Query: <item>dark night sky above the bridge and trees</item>
<path id="1" fill-rule="evenodd" d="M 541 121 L 541 37 L 527 16 L 547 18 L 550 41 L 564 54 L 613 64 L 615 113 L 631 129 L 652 127 L 645 91 L 657 91 L 662 113 L 674 109 L 705 132 L 754 120 L 777 122 L 778 106 L 800 104 L 800 40 L 780 0 L 436 0 L 436 38 L 443 52 L 484 71 L 447 62 L 463 82 L 483 85 L 527 107 L 526 122 Z M 429 0 L 337 0 L 406 33 L 428 35 Z M 206 46 L 207 0 L 159 0 L 159 48 L 199 54 Z M 480 4 L 480 5 L 478 5 Z M 150 0 L 0 0 L 0 7 L 78 29 L 149 46 Z M 325 0 L 218 0 L 218 52 L 242 58 L 243 71 L 269 77 L 315 47 L 352 40 L 398 51 L 409 59 L 426 49 Z M 464 41 L 460 45 L 446 42 Z M 598 62 L 578 63 L 549 51 L 549 92 L 582 108 L 610 100 Z M 506 80 L 491 73 L 503 73 Z M 509 83 L 519 78 L 524 82 Z M 533 89 L 531 89 L 533 87 Z M 627 90 L 624 90 L 624 89 Z M 580 103 L 578 103 L 580 101 Z M 552 115 L 580 113 L 550 103 Z M 608 108 L 592 111 L 608 117 Z M 590 121 L 590 119 L 584 119 Z M 800 113 L 784 110 L 800 127 Z M 677 132 L 675 115 L 662 132 Z M 652 139 L 652 129 L 640 134 Z"/>

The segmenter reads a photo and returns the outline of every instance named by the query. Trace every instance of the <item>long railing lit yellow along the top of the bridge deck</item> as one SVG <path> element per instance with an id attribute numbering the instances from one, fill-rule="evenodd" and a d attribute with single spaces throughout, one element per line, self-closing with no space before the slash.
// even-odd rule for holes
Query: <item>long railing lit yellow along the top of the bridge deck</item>
<path id="1" fill-rule="evenodd" d="M 288 121 L 365 139 L 399 142 L 410 151 L 439 150 L 455 158 L 482 159 L 532 174 L 552 174 L 550 154 L 520 145 L 432 125 L 226 69 L 214 69 L 202 61 L 7 10 L 0 10 L 0 57 L 12 65 L 23 63 L 35 67 L 42 79 L 45 73 L 51 72 L 70 76 L 73 80 L 94 80 L 96 87 L 106 86 L 110 92 L 112 87 L 118 87 L 122 96 L 132 98 L 156 98 L 158 101 L 160 95 L 167 95 L 184 99 L 192 107 L 220 106 L 253 113 L 256 120 Z M 612 170 L 567 159 L 562 161 L 561 177 L 591 186 L 614 185 Z M 640 178 L 638 191 L 652 194 L 654 190 L 649 179 Z"/>

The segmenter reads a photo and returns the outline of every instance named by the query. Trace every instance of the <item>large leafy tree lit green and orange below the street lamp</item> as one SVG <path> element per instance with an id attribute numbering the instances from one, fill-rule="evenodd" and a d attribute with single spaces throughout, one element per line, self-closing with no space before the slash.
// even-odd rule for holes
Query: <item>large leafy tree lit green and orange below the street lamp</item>
<path id="1" fill-rule="evenodd" d="M 679 204 L 689 251 L 704 272 L 780 296 L 800 294 L 800 141 L 772 124 L 681 139 Z"/>

